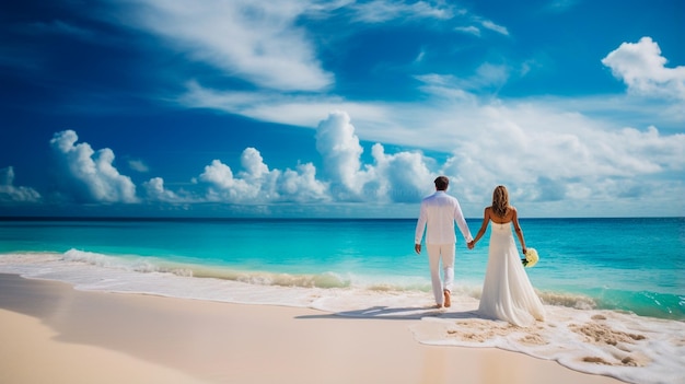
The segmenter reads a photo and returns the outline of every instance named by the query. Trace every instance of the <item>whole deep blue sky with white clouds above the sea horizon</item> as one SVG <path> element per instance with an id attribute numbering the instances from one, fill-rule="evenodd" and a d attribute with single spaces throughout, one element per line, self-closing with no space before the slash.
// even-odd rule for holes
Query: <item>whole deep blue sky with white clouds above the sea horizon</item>
<path id="1" fill-rule="evenodd" d="M 685 216 L 684 1 L 2 1 L 0 216 Z"/>

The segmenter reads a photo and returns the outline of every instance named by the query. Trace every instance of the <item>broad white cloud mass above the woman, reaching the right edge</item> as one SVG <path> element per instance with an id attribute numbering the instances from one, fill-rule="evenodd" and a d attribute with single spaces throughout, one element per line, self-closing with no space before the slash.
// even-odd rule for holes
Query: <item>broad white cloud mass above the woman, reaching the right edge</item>
<path id="1" fill-rule="evenodd" d="M 487 120 L 451 160 L 468 188 L 510 183 L 529 189 L 525 199 L 557 199 L 562 191 L 550 186 L 562 182 L 569 194 L 590 188 L 584 197 L 604 196 L 609 179 L 680 172 L 685 164 L 685 135 L 661 135 L 655 127 L 616 130 L 532 105 L 491 107 Z"/>

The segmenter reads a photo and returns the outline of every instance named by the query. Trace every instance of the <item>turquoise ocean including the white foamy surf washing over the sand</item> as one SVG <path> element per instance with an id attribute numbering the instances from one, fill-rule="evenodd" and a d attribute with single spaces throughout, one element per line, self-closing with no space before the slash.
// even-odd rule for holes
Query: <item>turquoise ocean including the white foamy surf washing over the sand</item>
<path id="1" fill-rule="evenodd" d="M 467 221 L 475 235 L 480 219 Z M 0 272 L 83 290 L 418 318 L 419 342 L 516 350 L 635 383 L 685 383 L 685 218 L 520 222 L 539 254 L 525 270 L 548 312 L 524 336 L 474 312 L 487 234 L 473 251 L 457 234 L 454 305 L 428 310 L 415 219 L 2 219 Z M 460 329 L 477 337 L 455 337 Z"/>

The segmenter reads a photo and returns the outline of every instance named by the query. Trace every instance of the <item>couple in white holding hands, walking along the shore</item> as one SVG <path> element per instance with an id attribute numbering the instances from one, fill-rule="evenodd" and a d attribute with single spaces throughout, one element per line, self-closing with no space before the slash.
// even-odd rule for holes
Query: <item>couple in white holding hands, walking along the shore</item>
<path id="1" fill-rule="evenodd" d="M 533 286 L 523 269 L 514 243 L 512 226 L 519 237 L 523 254 L 526 253 L 516 209 L 509 205 L 507 188 L 501 185 L 495 188 L 492 205 L 485 209 L 483 224 L 474 238 L 458 200 L 446 194 L 450 185 L 448 177 L 440 176 L 436 178 L 434 183 L 436 193 L 421 201 L 414 248 L 417 254 L 421 253 L 421 240 L 426 232 L 426 248 L 437 306 L 451 306 L 456 243 L 454 223 L 456 222 L 468 248 L 473 249 L 485 234 L 488 224 L 492 222 L 488 265 L 478 305 L 478 315 L 485 318 L 506 321 L 518 326 L 530 326 L 535 321 L 544 321 L 543 303 L 533 290 Z M 440 279 L 441 261 L 443 281 Z"/>

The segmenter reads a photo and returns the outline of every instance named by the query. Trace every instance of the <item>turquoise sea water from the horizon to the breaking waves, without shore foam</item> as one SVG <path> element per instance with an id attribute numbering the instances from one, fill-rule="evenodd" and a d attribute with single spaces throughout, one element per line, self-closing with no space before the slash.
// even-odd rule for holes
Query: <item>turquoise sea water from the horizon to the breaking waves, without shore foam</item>
<path id="1" fill-rule="evenodd" d="M 428 291 L 415 220 L 5 220 L 0 257 L 93 255 L 195 277 L 322 288 Z M 468 220 L 473 233 L 480 220 Z M 526 271 L 548 304 L 685 319 L 685 219 L 523 219 L 541 261 Z M 455 279 L 479 296 L 487 238 L 457 241 Z M 73 254 L 73 252 L 71 253 Z M 116 264 L 116 261 L 114 261 Z M 142 266 L 142 267 L 140 267 Z M 274 279 L 274 276 L 279 276 Z"/>

